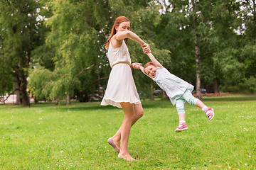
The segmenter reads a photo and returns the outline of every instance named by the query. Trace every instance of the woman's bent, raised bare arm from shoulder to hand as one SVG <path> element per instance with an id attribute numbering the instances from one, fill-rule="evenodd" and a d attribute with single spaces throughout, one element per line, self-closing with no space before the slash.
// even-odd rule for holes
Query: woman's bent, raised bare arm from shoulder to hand
<path id="1" fill-rule="evenodd" d="M 129 38 L 131 40 L 139 42 L 139 44 L 142 45 L 144 53 L 151 52 L 149 45 L 146 42 L 144 42 L 141 38 L 139 38 L 139 36 L 136 33 L 133 33 L 130 30 L 120 31 L 116 33 L 113 38 L 119 41 L 120 44 L 122 44 L 122 42 L 120 41 L 124 40 L 125 38 Z"/>

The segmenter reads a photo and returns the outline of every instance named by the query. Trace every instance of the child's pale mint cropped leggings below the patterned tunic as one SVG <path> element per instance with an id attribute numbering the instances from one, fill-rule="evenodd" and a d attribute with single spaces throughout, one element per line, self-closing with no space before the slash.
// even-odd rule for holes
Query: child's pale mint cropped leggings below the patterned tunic
<path id="1" fill-rule="evenodd" d="M 196 105 L 198 98 L 195 98 L 191 94 L 191 91 L 186 90 L 180 98 L 176 99 L 176 109 L 178 111 L 178 114 L 185 113 L 184 105 L 186 101 L 191 105 Z"/>

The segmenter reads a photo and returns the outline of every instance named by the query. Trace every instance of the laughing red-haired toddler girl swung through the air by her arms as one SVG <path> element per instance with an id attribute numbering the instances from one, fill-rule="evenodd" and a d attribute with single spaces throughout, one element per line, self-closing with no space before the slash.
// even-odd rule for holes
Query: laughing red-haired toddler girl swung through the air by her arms
<path id="1" fill-rule="evenodd" d="M 175 132 L 181 132 L 187 130 L 188 126 L 185 121 L 185 110 L 184 104 L 187 101 L 192 105 L 196 105 L 201 108 L 204 113 L 206 113 L 207 118 L 212 120 L 214 117 L 213 108 L 208 108 L 203 104 L 198 98 L 193 97 L 191 92 L 193 91 L 194 86 L 188 84 L 176 77 L 174 74 L 171 74 L 166 68 L 164 68 L 152 55 L 147 53 L 151 62 L 148 62 L 142 67 L 142 64 L 133 63 L 134 69 L 141 69 L 144 74 L 156 81 L 161 89 L 166 91 L 167 96 L 169 96 L 171 103 L 176 105 L 178 111 L 179 125 L 176 128 Z"/>

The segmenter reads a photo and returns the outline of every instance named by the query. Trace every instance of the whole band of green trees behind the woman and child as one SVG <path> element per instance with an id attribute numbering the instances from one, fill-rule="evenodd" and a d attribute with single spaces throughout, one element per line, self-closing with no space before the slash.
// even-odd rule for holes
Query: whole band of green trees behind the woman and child
<path id="1" fill-rule="evenodd" d="M 117 16 L 151 45 L 176 76 L 208 92 L 256 92 L 256 2 L 253 0 L 0 0 L 0 96 L 16 104 L 100 98 L 110 65 L 103 44 Z M 148 62 L 129 40 L 132 62 Z M 142 98 L 157 87 L 133 71 Z"/>

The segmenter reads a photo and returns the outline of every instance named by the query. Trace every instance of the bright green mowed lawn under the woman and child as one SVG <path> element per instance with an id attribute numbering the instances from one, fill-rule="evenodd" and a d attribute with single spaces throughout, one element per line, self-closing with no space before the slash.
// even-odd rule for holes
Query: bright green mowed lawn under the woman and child
<path id="1" fill-rule="evenodd" d="M 122 109 L 95 103 L 0 105 L 0 169 L 256 169 L 256 96 L 203 99 L 214 108 L 208 121 L 186 103 L 188 130 L 174 132 L 170 101 L 142 101 L 144 116 L 132 127 L 129 153 L 117 158 L 107 139 Z"/>

